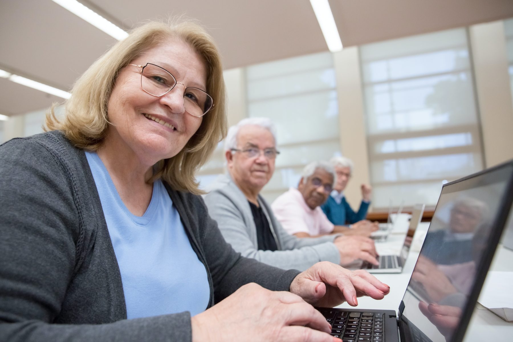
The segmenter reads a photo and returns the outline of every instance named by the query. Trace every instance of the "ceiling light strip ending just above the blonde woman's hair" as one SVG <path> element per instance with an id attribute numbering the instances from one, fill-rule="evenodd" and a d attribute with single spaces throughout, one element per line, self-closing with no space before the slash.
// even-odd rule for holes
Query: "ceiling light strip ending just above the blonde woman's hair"
<path id="1" fill-rule="evenodd" d="M 82 5 L 76 0 L 52 0 L 57 5 L 61 5 L 71 13 L 77 15 L 78 17 L 84 19 L 89 24 L 95 26 L 96 28 L 102 30 L 108 35 L 116 38 L 118 41 L 122 41 L 128 36 L 123 29 L 115 26 L 107 19 L 105 19 L 100 14 L 90 10 L 86 6 Z"/>

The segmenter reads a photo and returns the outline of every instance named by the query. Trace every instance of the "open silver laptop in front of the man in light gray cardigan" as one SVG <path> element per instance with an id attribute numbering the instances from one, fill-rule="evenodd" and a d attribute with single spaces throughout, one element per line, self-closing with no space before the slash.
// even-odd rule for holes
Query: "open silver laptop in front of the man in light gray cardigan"
<path id="1" fill-rule="evenodd" d="M 424 207 L 424 204 L 416 204 L 413 206 L 408 229 L 412 231 L 417 229 L 417 226 L 419 226 L 422 220 L 422 214 L 424 214 Z M 411 242 L 408 240 L 407 235 L 405 235 L 403 247 L 399 255 L 380 255 L 378 257 L 379 265 L 372 265 L 364 261 L 361 268 L 367 270 L 369 273 L 401 273 L 410 252 L 410 246 Z"/>

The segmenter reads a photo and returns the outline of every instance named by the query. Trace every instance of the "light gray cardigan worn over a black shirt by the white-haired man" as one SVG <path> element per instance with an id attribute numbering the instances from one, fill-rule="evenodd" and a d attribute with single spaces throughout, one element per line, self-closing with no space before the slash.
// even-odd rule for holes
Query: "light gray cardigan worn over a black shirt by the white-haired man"
<path id="1" fill-rule="evenodd" d="M 213 190 L 205 197 L 208 213 L 218 222 L 226 242 L 243 256 L 282 269 L 302 271 L 318 261 L 340 263 L 339 250 L 333 244 L 336 236 L 298 238 L 289 235 L 260 195 L 258 202 L 267 216 L 278 250 L 259 250 L 257 227 L 246 196 L 228 175 L 218 177 L 211 188 Z"/>

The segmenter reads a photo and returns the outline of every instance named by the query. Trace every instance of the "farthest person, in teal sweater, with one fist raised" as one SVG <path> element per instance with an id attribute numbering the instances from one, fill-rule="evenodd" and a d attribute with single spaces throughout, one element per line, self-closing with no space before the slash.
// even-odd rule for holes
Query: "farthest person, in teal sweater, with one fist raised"
<path id="1" fill-rule="evenodd" d="M 344 196 L 344 189 L 349 182 L 349 178 L 351 178 L 353 169 L 351 159 L 346 157 L 333 157 L 329 162 L 335 169 L 337 180 L 331 195 L 321 206 L 328 219 L 334 225 L 351 225 L 353 228 L 357 228 L 361 225 L 373 225 L 368 220 L 365 220 L 370 205 L 372 188 L 369 185 L 362 184 L 363 199 L 360 204 L 360 209 L 355 212 L 351 209 Z"/>

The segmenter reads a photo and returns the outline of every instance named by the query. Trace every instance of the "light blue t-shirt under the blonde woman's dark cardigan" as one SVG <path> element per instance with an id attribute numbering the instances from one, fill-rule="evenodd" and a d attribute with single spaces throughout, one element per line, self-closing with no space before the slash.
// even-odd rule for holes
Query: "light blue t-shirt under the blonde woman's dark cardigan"
<path id="1" fill-rule="evenodd" d="M 203 312 L 210 300 L 205 266 L 161 180 L 143 216 L 121 200 L 102 160 L 86 152 L 120 266 L 128 318 Z"/>

